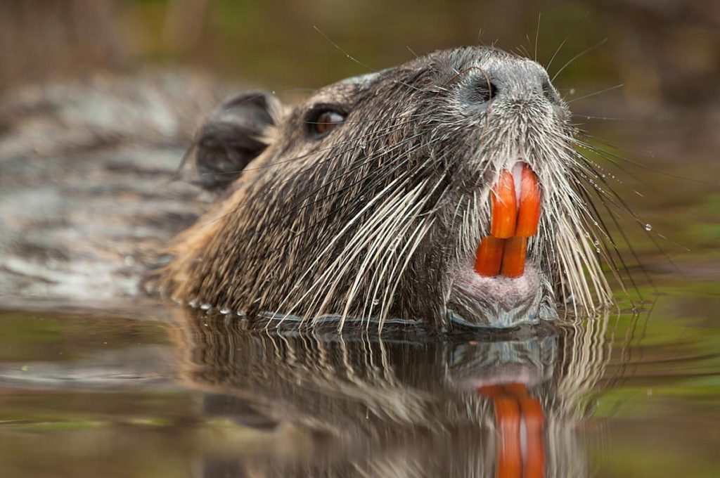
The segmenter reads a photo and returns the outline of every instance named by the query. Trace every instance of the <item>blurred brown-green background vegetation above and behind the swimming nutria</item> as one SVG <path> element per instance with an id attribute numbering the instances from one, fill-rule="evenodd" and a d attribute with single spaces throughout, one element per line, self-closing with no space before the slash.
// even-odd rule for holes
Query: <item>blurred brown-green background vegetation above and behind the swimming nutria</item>
<path id="1" fill-rule="evenodd" d="M 148 63 L 201 66 L 273 89 L 367 71 L 331 42 L 384 68 L 413 52 L 477 43 L 534 56 L 537 37 L 544 64 L 562 44 L 557 71 L 607 37 L 563 83 L 619 80 L 642 99 L 686 102 L 698 93 L 680 83 L 709 85 L 720 71 L 719 32 L 714 0 L 23 0 L 0 6 L 0 86 Z"/>

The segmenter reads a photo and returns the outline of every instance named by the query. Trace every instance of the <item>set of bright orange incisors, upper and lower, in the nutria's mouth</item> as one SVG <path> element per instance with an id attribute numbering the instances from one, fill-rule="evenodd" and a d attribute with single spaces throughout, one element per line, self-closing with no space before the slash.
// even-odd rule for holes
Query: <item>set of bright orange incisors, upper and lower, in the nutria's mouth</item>
<path id="1" fill-rule="evenodd" d="M 520 188 L 519 201 L 516 187 Z M 523 163 L 520 184 L 502 171 L 490 194 L 490 235 L 477 246 L 474 269 L 486 277 L 519 277 L 525 271 L 527 238 L 537 234 L 540 222 L 540 186 L 533 170 Z"/>

